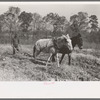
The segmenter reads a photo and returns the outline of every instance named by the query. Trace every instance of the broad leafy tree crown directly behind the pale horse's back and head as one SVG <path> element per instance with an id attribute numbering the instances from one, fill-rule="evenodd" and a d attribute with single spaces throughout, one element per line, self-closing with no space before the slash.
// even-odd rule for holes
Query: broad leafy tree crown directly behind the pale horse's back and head
<path id="1" fill-rule="evenodd" d="M 49 13 L 44 18 L 46 23 L 50 23 L 53 26 L 53 35 L 55 36 L 65 32 L 65 27 L 68 24 L 68 21 L 65 16 L 59 16 L 56 13 Z M 59 34 L 58 34 L 59 33 Z"/>

